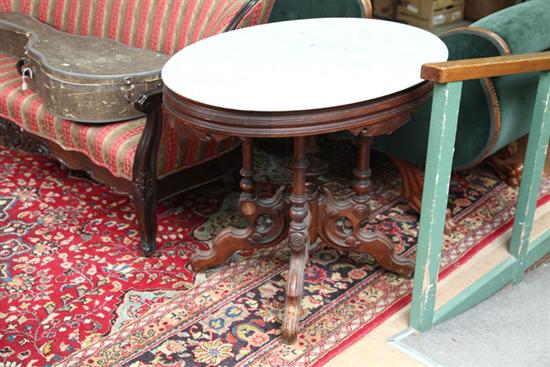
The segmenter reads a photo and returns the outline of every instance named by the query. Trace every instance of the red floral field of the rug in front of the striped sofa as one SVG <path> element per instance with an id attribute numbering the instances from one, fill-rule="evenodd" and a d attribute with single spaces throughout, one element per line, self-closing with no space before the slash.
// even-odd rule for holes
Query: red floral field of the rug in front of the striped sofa
<path id="1" fill-rule="evenodd" d="M 190 231 L 220 200 L 187 195 L 177 216 L 162 208 L 162 246 L 145 259 L 127 197 L 0 147 L 0 365 L 47 366 L 94 342 L 129 292 L 189 289 Z M 164 297 L 135 295 L 127 312 Z"/>

